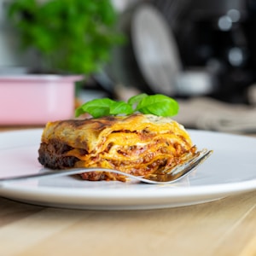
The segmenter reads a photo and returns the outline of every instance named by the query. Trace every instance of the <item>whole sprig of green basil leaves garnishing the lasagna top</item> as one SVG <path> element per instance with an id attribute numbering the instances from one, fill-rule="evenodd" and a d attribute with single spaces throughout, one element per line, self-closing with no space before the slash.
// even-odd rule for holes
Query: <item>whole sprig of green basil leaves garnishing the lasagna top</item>
<path id="1" fill-rule="evenodd" d="M 94 118 L 108 115 L 151 113 L 158 116 L 173 116 L 178 112 L 178 103 L 169 96 L 156 94 L 148 96 L 145 93 L 132 96 L 127 102 L 113 101 L 109 98 L 95 99 L 81 105 L 75 111 L 78 117 L 83 113 L 90 113 Z"/>

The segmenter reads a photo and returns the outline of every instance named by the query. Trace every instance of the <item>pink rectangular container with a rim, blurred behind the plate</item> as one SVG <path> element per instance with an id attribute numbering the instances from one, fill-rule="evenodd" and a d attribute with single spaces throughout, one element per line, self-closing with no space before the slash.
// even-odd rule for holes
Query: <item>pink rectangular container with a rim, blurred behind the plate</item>
<path id="1" fill-rule="evenodd" d="M 75 81 L 81 76 L 0 76 L 0 125 L 44 125 L 74 115 Z"/>

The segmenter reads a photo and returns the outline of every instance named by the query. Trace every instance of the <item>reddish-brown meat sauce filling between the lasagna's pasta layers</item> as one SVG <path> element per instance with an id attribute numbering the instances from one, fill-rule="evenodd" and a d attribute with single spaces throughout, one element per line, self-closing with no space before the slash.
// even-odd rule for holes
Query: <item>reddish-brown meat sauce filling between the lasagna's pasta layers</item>
<path id="1" fill-rule="evenodd" d="M 113 133 L 117 132 L 125 132 L 131 133 L 137 131 L 113 131 Z M 149 133 L 147 129 L 143 130 L 140 133 L 140 137 L 142 141 L 148 139 L 148 137 L 154 137 L 152 133 Z M 163 143 L 163 141 L 156 141 L 155 143 Z M 148 154 L 145 154 L 143 158 L 138 157 L 137 160 L 123 160 L 121 157 L 117 157 L 113 160 L 108 160 L 110 166 L 113 166 L 114 169 L 125 172 L 125 166 L 130 166 L 130 170 L 127 172 L 134 175 L 146 175 L 151 172 L 156 172 L 159 169 L 165 168 L 166 166 L 172 166 L 173 164 L 177 164 L 179 161 L 178 156 L 184 154 L 186 152 L 185 148 L 182 147 L 180 143 L 172 144 L 172 147 L 175 148 L 175 155 L 173 152 L 170 152 L 169 143 L 166 143 L 166 147 L 160 147 L 154 152 L 150 152 L 151 146 L 141 146 L 141 145 L 131 145 L 125 148 L 120 148 L 117 150 L 117 153 L 123 156 L 129 155 L 141 155 L 144 152 L 148 151 Z M 113 143 L 109 143 L 104 152 L 108 153 L 110 149 L 113 147 Z M 61 168 L 71 168 L 75 166 L 76 162 L 79 161 L 78 157 L 75 156 L 63 156 L 63 154 L 73 150 L 73 147 L 65 143 L 61 143 L 61 141 L 53 140 L 49 142 L 49 144 L 41 143 L 41 147 L 39 148 L 39 162 L 49 168 L 52 169 L 61 169 Z M 88 154 L 88 151 L 84 148 L 79 148 L 80 155 Z M 158 160 L 154 160 L 156 154 L 169 154 L 172 157 L 163 157 Z M 97 158 L 97 157 L 96 157 Z M 152 161 L 154 160 L 154 161 Z M 100 160 L 101 161 L 101 160 Z M 100 161 L 97 162 L 96 166 L 101 166 Z M 83 173 L 81 175 L 83 179 L 86 180 L 123 180 L 125 177 L 121 177 L 118 174 L 107 173 L 107 172 L 88 172 Z"/>

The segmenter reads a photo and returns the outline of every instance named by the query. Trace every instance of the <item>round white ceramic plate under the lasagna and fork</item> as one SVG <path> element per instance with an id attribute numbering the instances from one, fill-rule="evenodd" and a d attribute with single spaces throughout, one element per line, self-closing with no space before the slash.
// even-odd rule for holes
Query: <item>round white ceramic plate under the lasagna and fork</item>
<path id="1" fill-rule="evenodd" d="M 41 133 L 33 129 L 0 134 L 0 177 L 42 170 L 38 163 Z M 188 206 L 256 189 L 255 138 L 211 131 L 189 133 L 198 148 L 214 152 L 195 172 L 172 185 L 51 177 L 6 184 L 0 195 L 50 207 L 139 210 Z"/>

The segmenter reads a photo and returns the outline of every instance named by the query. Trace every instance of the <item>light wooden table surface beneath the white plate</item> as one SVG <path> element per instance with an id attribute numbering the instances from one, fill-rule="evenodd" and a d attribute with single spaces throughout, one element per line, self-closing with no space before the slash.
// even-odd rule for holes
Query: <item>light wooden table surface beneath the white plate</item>
<path id="1" fill-rule="evenodd" d="M 161 210 L 70 210 L 3 197 L 0 209 L 0 256 L 256 255 L 256 191 Z"/>

